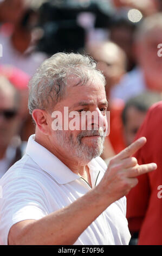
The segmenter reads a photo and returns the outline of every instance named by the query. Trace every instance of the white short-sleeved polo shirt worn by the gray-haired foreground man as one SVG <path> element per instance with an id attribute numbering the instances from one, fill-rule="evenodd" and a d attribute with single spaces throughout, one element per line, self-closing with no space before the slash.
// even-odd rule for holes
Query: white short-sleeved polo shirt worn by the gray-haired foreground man
<path id="1" fill-rule="evenodd" d="M 8 244 L 8 233 L 15 223 L 38 220 L 73 203 L 92 189 L 55 155 L 35 142 L 34 137 L 31 135 L 29 138 L 26 154 L 0 180 L 2 245 Z M 94 187 L 102 179 L 107 166 L 100 157 L 96 157 L 88 167 Z M 123 197 L 108 206 L 74 245 L 128 245 L 131 235 L 125 216 L 126 198 Z"/>

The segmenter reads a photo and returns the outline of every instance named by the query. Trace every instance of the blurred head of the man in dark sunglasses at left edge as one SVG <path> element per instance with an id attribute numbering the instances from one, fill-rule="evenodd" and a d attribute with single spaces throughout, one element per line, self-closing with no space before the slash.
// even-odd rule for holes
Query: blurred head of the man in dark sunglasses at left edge
<path id="1" fill-rule="evenodd" d="M 15 89 L 0 77 L 0 147 L 6 148 L 16 135 L 20 119 Z"/>

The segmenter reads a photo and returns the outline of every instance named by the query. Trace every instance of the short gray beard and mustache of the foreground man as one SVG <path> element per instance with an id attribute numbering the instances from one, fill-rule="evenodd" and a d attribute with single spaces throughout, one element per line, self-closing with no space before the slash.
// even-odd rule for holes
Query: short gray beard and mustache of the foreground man
<path id="1" fill-rule="evenodd" d="M 73 133 L 70 133 L 69 131 L 57 130 L 56 135 L 57 141 L 61 147 L 67 149 L 70 155 L 77 157 L 82 161 L 89 162 L 102 154 L 105 136 L 100 136 L 99 138 L 94 139 L 92 147 L 88 147 L 88 145 L 81 141 L 85 136 L 100 135 L 99 131 L 81 131 L 76 139 L 74 139 Z"/>

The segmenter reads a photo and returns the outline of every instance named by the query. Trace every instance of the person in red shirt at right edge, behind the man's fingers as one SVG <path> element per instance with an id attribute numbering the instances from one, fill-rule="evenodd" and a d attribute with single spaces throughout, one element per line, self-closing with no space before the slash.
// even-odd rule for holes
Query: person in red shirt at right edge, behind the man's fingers
<path id="1" fill-rule="evenodd" d="M 135 139 L 145 136 L 147 143 L 134 155 L 138 164 L 157 163 L 158 168 L 139 176 L 138 185 L 127 195 L 128 227 L 138 233 L 138 245 L 162 245 L 162 101 L 147 112 Z"/>

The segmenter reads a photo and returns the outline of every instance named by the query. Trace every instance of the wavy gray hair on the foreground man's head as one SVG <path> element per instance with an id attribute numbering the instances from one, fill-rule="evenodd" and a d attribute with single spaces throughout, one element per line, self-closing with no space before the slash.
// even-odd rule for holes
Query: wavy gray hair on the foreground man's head
<path id="1" fill-rule="evenodd" d="M 96 69 L 95 61 L 79 53 L 56 53 L 46 59 L 29 82 L 28 108 L 50 109 L 65 97 L 65 88 L 70 78 L 78 78 L 77 85 L 93 80 L 92 72 L 100 76 L 105 84 L 105 77 Z"/>

